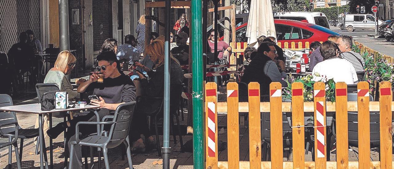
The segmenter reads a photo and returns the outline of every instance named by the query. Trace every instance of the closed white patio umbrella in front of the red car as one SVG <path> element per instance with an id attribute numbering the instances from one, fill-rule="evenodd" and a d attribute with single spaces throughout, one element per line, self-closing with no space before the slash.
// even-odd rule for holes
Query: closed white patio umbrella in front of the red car
<path id="1" fill-rule="evenodd" d="M 252 0 L 246 30 L 248 45 L 257 49 L 257 38 L 262 35 L 276 37 L 271 0 Z"/>

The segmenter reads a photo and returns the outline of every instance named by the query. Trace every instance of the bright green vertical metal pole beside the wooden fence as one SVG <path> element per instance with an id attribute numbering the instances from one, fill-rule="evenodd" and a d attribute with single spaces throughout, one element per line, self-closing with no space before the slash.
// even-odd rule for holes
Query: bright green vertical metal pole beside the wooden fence
<path id="1" fill-rule="evenodd" d="M 193 85 L 193 164 L 195 169 L 204 168 L 204 93 L 203 93 L 203 36 L 201 0 L 191 0 L 191 53 Z M 204 42 L 206 43 L 206 42 Z"/>

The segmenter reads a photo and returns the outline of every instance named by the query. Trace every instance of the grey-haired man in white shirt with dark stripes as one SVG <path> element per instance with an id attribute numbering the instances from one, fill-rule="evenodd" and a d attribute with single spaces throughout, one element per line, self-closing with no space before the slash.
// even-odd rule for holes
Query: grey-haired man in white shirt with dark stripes
<path id="1" fill-rule="evenodd" d="M 336 44 L 338 45 L 341 53 L 341 58 L 348 60 L 354 67 L 357 73 L 364 72 L 365 62 L 360 54 L 351 51 L 353 42 L 350 36 L 339 36 Z"/>

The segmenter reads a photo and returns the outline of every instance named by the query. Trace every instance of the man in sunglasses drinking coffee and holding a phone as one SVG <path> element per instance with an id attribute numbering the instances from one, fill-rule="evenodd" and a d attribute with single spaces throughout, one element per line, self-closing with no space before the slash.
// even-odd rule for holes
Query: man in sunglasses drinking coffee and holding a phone
<path id="1" fill-rule="evenodd" d="M 78 92 L 93 90 L 93 94 L 99 96 L 100 100 L 91 100 L 91 104 L 100 107 L 98 113 L 101 119 L 106 115 L 112 115 L 112 112 L 122 103 L 134 101 L 136 99 L 136 92 L 134 83 L 130 78 L 119 72 L 119 64 L 115 53 L 101 53 L 97 56 L 97 61 L 99 64 L 99 68 L 97 69 L 100 69 L 101 73 L 104 75 L 103 83 L 98 83 L 97 79 L 99 75 L 93 73 L 88 81 L 78 86 Z M 95 114 L 93 111 L 90 111 L 87 115 L 76 116 L 69 122 L 59 123 L 54 128 L 49 129 L 47 133 L 49 137 L 56 138 L 65 128 L 68 128 L 67 136 L 71 136 L 74 135 L 75 126 L 78 122 L 95 120 Z M 95 125 L 82 125 L 80 127 L 80 132 L 82 135 L 89 135 L 91 133 L 96 133 L 97 129 Z M 73 140 L 75 140 L 75 136 L 70 138 L 70 141 Z M 74 146 L 74 152 L 75 156 L 73 158 L 74 161 L 71 161 L 72 165 L 74 168 L 82 168 L 81 147 Z"/>

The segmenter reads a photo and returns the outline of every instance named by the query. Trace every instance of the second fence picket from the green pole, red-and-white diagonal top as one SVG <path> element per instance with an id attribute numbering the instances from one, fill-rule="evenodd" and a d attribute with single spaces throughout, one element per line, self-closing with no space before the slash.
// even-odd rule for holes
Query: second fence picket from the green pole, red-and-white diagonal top
<path id="1" fill-rule="evenodd" d="M 227 83 L 227 159 L 229 168 L 240 168 L 240 126 L 238 113 L 238 84 Z"/>

